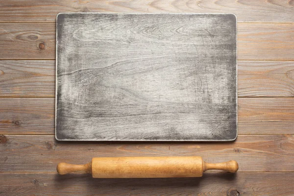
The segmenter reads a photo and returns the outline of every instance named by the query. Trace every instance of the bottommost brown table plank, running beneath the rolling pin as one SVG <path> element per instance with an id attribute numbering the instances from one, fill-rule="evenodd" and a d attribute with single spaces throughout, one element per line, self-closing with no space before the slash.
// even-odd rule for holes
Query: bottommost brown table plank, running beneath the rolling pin
<path id="1" fill-rule="evenodd" d="M 75 173 L 0 173 L 2 196 L 291 196 L 293 172 L 204 173 L 201 178 L 98 179 Z"/>

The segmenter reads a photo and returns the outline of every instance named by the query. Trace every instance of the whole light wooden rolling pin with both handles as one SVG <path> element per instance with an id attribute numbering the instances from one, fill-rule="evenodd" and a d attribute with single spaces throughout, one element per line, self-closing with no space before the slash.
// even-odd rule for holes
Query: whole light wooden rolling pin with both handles
<path id="1" fill-rule="evenodd" d="M 94 178 L 200 177 L 206 170 L 237 172 L 236 161 L 206 163 L 199 156 L 182 157 L 99 157 L 85 165 L 59 163 L 57 172 L 92 173 Z"/>

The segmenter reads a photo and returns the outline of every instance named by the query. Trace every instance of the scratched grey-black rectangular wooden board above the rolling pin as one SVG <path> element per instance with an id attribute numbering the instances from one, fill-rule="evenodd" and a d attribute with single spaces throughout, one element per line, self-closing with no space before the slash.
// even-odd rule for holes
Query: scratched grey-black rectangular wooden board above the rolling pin
<path id="1" fill-rule="evenodd" d="M 233 14 L 61 13 L 57 140 L 237 137 Z"/>

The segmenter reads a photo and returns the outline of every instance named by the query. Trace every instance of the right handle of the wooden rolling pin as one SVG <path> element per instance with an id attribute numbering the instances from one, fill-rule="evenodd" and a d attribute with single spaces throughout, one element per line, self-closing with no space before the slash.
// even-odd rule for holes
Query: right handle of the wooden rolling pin
<path id="1" fill-rule="evenodd" d="M 226 172 L 237 172 L 239 165 L 236 161 L 227 161 L 223 163 L 206 163 L 203 161 L 203 172 L 207 170 L 223 170 Z"/>

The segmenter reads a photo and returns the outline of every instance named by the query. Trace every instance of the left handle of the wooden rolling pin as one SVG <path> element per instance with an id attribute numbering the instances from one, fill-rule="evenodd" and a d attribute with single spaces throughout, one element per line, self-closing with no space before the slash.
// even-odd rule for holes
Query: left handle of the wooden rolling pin
<path id="1" fill-rule="evenodd" d="M 58 163 L 57 165 L 58 174 L 67 174 L 71 172 L 87 172 L 91 173 L 91 162 L 85 165 L 73 165 L 69 163 Z"/>

